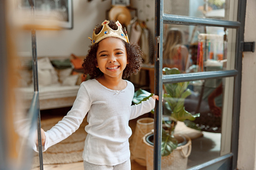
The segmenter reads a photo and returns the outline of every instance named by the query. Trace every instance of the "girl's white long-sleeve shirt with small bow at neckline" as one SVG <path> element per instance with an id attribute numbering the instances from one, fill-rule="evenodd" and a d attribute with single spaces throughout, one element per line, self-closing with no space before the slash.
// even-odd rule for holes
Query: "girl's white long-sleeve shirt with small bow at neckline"
<path id="1" fill-rule="evenodd" d="M 123 90 L 108 89 L 96 79 L 82 82 L 71 110 L 45 132 L 43 151 L 77 130 L 88 113 L 83 159 L 100 165 L 116 165 L 128 160 L 128 139 L 132 134 L 129 120 L 150 112 L 155 100 L 150 97 L 140 104 L 131 105 L 134 86 L 126 82 Z"/>

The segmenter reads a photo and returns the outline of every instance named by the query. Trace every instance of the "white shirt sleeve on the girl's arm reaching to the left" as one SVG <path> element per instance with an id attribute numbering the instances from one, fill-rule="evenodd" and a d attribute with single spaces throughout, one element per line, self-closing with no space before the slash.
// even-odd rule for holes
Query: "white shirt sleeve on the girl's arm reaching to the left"
<path id="1" fill-rule="evenodd" d="M 81 84 L 71 110 L 66 116 L 63 117 L 61 121 L 45 132 L 46 139 L 43 151 L 47 150 L 48 147 L 64 140 L 75 132 L 79 128 L 90 107 L 90 96 L 86 90 L 86 87 Z M 35 144 L 33 148 L 35 151 L 37 151 Z"/>

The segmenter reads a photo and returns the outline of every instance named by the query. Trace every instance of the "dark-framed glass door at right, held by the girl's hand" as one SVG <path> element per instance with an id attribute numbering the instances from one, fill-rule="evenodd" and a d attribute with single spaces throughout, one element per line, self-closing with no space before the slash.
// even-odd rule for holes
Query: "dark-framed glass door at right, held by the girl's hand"
<path id="1" fill-rule="evenodd" d="M 154 114 L 154 169 L 165 166 L 166 119 L 201 130 L 203 137 L 185 132 L 192 138 L 187 169 L 236 168 L 245 6 L 229 0 L 155 1 L 155 94 L 163 100 Z M 173 90 L 189 92 L 177 97 Z M 174 100 L 186 111 L 178 112 Z M 183 113 L 196 118 L 182 119 Z"/>

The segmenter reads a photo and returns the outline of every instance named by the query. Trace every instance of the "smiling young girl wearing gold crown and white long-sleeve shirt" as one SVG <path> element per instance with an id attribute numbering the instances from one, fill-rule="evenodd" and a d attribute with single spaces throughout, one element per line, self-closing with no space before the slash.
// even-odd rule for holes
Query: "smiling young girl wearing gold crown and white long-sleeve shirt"
<path id="1" fill-rule="evenodd" d="M 91 40 L 82 66 L 92 79 L 81 83 L 73 107 L 61 121 L 46 132 L 41 129 L 43 151 L 71 135 L 88 113 L 84 169 L 131 169 L 129 120 L 153 109 L 158 96 L 131 105 L 134 86 L 123 78 L 140 70 L 142 52 L 129 44 L 118 21 L 105 20 Z"/>

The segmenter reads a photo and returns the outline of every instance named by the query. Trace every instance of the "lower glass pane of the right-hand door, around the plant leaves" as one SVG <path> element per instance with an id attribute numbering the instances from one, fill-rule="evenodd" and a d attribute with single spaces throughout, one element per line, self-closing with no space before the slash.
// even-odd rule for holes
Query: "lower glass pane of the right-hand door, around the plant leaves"
<path id="1" fill-rule="evenodd" d="M 181 121 L 178 121 L 175 127 L 175 133 L 187 134 L 192 139 L 192 151 L 188 158 L 189 168 L 219 157 L 221 154 L 221 120 L 223 114 L 226 114 L 222 112 L 225 78 L 182 83 L 188 84 L 187 89 L 189 89 L 191 94 L 185 98 L 184 95 L 181 95 L 179 98 L 174 98 L 173 101 L 183 101 L 184 109 L 192 115 L 200 113 L 200 116 L 196 117 L 195 120 L 184 121 L 187 126 L 200 130 L 187 128 L 185 125 L 185 127 L 181 126 Z M 164 84 L 165 96 L 166 93 L 172 96 L 170 94 L 172 92 L 167 91 L 166 87 L 179 87 L 180 84 Z M 166 101 L 163 100 L 163 120 L 168 117 L 165 114 L 168 112 L 168 108 L 164 106 Z"/>

